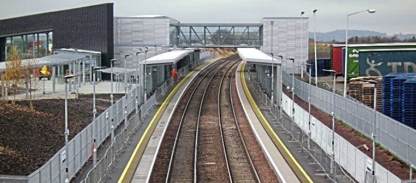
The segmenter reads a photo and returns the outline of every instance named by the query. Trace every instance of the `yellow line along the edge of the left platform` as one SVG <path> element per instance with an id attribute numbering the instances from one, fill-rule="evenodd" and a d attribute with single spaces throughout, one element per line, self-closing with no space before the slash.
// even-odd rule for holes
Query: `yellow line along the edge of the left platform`
<path id="1" fill-rule="evenodd" d="M 195 70 L 198 70 L 205 66 L 206 64 L 216 62 L 220 58 L 214 58 L 208 62 L 205 62 L 201 66 L 197 67 Z M 145 132 L 143 133 L 142 138 L 140 141 L 138 141 L 132 156 L 130 157 L 130 160 L 128 161 L 126 167 L 123 170 L 123 173 L 121 174 L 118 183 L 127 183 L 131 182 L 131 179 L 133 178 L 135 169 L 137 168 L 138 162 L 142 158 L 142 155 L 144 153 L 144 150 L 146 148 L 146 145 L 148 144 L 151 134 L 153 134 L 153 131 L 159 122 L 160 117 L 162 116 L 162 113 L 167 107 L 167 104 L 169 104 L 170 100 L 173 98 L 173 96 L 178 92 L 178 89 L 185 83 L 186 80 L 188 80 L 189 77 L 192 76 L 192 74 L 195 72 L 195 70 L 191 71 L 187 76 L 185 76 L 184 79 L 182 79 L 178 85 L 175 86 L 174 89 L 169 93 L 169 95 L 166 97 L 166 99 L 163 101 L 163 103 L 160 105 L 159 109 L 156 111 L 155 115 L 153 116 L 152 120 L 149 123 L 149 126 L 146 128 Z M 173 112 L 173 111 L 172 111 Z"/>

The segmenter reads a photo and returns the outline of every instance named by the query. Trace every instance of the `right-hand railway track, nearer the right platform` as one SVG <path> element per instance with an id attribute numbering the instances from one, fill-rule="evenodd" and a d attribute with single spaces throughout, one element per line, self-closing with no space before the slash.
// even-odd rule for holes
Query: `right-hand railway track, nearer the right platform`
<path id="1" fill-rule="evenodd" d="M 231 182 L 261 182 L 238 125 L 232 102 L 231 81 L 236 66 L 223 75 L 218 92 L 221 138 Z"/>

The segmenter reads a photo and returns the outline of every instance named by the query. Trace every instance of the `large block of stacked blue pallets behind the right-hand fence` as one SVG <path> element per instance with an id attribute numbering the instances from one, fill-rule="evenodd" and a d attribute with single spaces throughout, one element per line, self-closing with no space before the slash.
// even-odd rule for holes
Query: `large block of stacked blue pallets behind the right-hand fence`
<path id="1" fill-rule="evenodd" d="M 416 128 L 416 73 L 383 77 L 383 113 Z"/>

